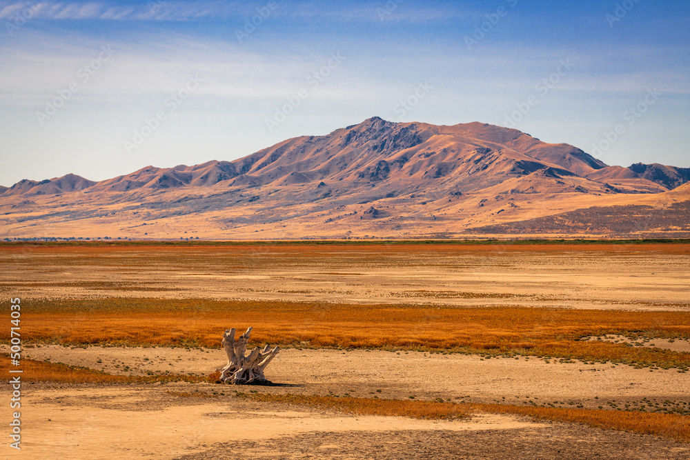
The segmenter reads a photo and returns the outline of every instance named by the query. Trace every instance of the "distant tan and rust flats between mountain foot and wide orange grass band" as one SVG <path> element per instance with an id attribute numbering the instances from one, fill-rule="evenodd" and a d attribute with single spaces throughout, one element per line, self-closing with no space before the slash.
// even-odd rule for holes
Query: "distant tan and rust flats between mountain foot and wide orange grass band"
<path id="1" fill-rule="evenodd" d="M 0 248 L 12 297 L 690 310 L 690 245 Z"/>

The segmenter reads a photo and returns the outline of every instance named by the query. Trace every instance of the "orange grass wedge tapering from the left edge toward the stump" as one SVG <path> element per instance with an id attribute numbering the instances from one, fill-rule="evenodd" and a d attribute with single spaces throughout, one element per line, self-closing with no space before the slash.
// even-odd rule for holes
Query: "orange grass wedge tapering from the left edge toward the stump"
<path id="1" fill-rule="evenodd" d="M 9 370 L 21 370 L 21 374 L 10 374 Z M 155 377 L 137 377 L 113 375 L 98 370 L 68 366 L 63 363 L 46 363 L 34 359 L 21 359 L 21 366 L 10 364 L 8 355 L 0 355 L 0 374 L 3 376 L 21 376 L 21 381 L 50 381 L 59 383 L 150 383 L 155 381 L 208 381 L 207 377 L 190 375 L 161 375 Z"/>

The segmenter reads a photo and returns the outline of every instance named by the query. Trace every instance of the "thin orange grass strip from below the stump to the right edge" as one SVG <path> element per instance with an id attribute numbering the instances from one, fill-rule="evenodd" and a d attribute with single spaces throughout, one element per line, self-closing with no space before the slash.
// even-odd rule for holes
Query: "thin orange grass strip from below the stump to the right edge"
<path id="1" fill-rule="evenodd" d="M 462 418 L 466 417 L 468 413 L 477 411 L 495 414 L 517 414 L 540 420 L 580 423 L 607 430 L 656 434 L 675 439 L 676 441 L 690 441 L 690 417 L 678 414 L 521 407 L 503 404 L 439 403 L 400 401 L 397 399 L 300 396 L 295 394 L 250 394 L 248 396 L 255 401 L 291 403 L 317 408 L 336 409 L 351 414 L 400 415 L 417 419 Z"/>

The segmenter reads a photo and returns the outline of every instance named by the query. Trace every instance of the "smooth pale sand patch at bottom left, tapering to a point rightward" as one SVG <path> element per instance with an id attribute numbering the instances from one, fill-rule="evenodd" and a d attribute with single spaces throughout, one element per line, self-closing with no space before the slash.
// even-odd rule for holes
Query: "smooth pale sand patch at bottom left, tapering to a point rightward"
<path id="1" fill-rule="evenodd" d="M 214 451 L 221 443 L 292 439 L 304 434 L 544 427 L 543 423 L 493 414 L 462 421 L 350 417 L 329 411 L 253 403 L 230 395 L 175 396 L 199 388 L 205 395 L 217 390 L 217 386 L 185 383 L 32 390 L 23 410 L 25 441 L 23 455 L 18 458 L 170 459 L 190 452 Z"/>

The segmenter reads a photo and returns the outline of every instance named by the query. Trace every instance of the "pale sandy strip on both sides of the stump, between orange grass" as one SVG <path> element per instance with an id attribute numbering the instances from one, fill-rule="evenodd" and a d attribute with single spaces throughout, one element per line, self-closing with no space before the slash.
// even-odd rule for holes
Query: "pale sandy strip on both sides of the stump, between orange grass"
<path id="1" fill-rule="evenodd" d="M 25 357 L 40 361 L 49 358 L 51 362 L 126 375 L 166 371 L 208 375 L 226 363 L 225 352 L 219 349 L 41 346 L 26 350 Z M 602 405 L 609 408 L 609 401 L 639 403 L 644 397 L 650 401 L 690 404 L 687 393 L 690 374 L 675 369 L 649 371 L 601 363 L 556 360 L 546 363 L 537 358 L 483 359 L 464 354 L 287 349 L 281 350 L 266 375 L 283 386 L 262 387 L 262 391 L 553 403 L 556 407 L 571 407 L 573 403 L 586 408 Z"/>

